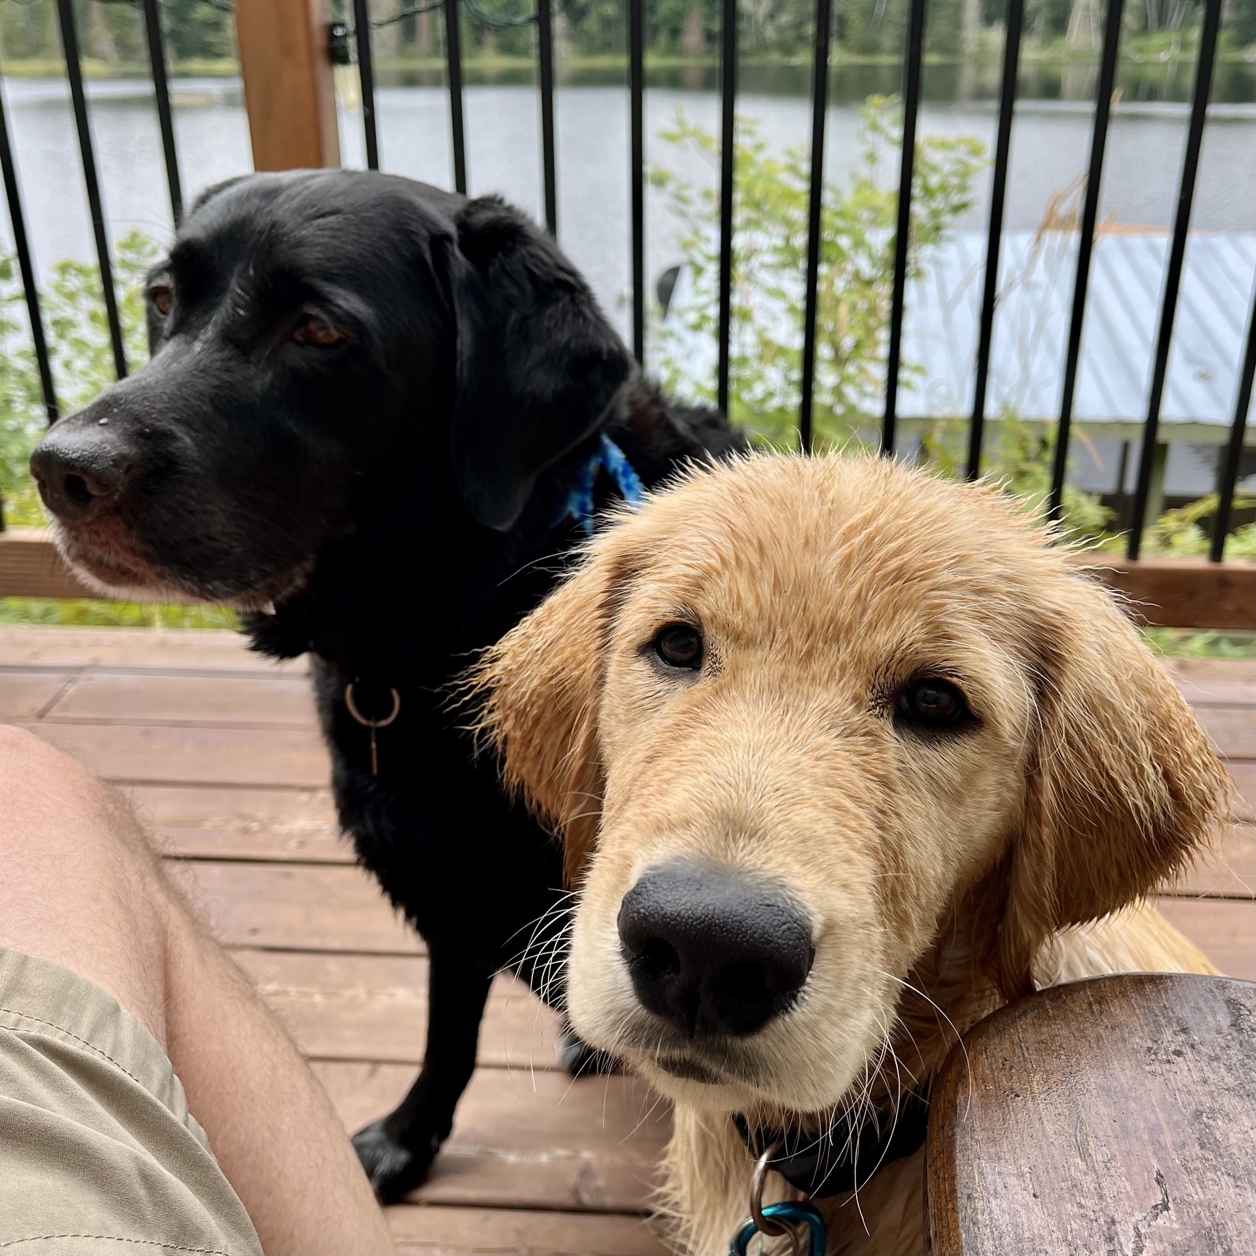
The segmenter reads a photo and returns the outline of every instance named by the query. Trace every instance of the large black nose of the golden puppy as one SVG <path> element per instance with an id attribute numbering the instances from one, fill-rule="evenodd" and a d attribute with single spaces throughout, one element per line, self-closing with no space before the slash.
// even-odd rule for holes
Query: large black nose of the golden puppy
<path id="1" fill-rule="evenodd" d="M 642 1005 L 691 1037 L 754 1034 L 794 1001 L 815 947 L 766 878 L 676 860 L 624 894 L 619 939 Z"/>

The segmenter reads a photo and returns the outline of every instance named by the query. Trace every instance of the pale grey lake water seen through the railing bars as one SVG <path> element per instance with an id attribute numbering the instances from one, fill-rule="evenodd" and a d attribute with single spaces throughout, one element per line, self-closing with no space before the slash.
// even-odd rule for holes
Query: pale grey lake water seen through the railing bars
<path id="1" fill-rule="evenodd" d="M 887 70 L 891 78 L 880 83 Z M 1247 70 L 1247 67 L 1240 67 Z M 1089 103 L 1059 97 L 1081 95 L 1088 67 L 1078 67 L 1071 84 L 1053 80 L 1055 99 L 1017 104 L 1014 128 L 1006 225 L 1032 229 L 1053 193 L 1083 172 L 1090 139 Z M 1237 72 L 1236 72 L 1237 73 Z M 794 77 L 805 84 L 805 74 Z M 987 79 L 990 74 L 985 75 Z M 1183 72 L 1189 82 L 1188 73 Z M 762 75 L 760 75 L 762 79 Z M 755 90 L 747 74 L 740 112 L 755 119 L 772 151 L 806 144 L 810 104 L 805 95 Z M 1207 231 L 1256 231 L 1256 104 L 1233 99 L 1251 90 L 1251 75 L 1236 80 L 1231 98 L 1210 112 L 1193 226 Z M 859 161 L 858 118 L 864 90 L 893 87 L 892 68 L 868 68 L 835 90 L 829 112 L 826 173 L 844 180 Z M 996 123 L 993 90 L 976 79 L 970 99 L 937 99 L 947 83 L 927 92 L 921 126 L 924 133 L 971 134 L 987 144 Z M 698 84 L 700 88 L 703 84 Z M 761 84 L 760 84 L 761 85 Z M 769 87 L 779 85 L 767 83 Z M 927 84 L 928 87 L 928 84 Z M 36 264 L 46 274 L 60 257 L 92 256 L 90 224 L 82 167 L 62 80 L 8 79 L 4 92 Z M 951 94 L 956 94 L 952 92 Z M 1130 92 L 1130 95 L 1137 93 Z M 1161 94 L 1173 94 L 1162 90 Z M 1179 93 L 1181 94 L 1181 93 Z M 106 212 L 114 237 L 138 227 L 158 241 L 171 235 L 161 144 L 152 90 L 142 80 L 89 84 L 92 124 Z M 219 180 L 251 167 L 249 131 L 240 85 L 224 79 L 177 80 L 173 84 L 180 163 L 188 198 Z M 607 309 L 628 327 L 628 98 L 622 87 L 571 83 L 556 94 L 559 239 L 584 270 Z M 718 99 L 713 90 L 656 87 L 647 93 L 647 161 L 715 187 L 713 163 L 662 141 L 677 112 L 716 131 Z M 377 117 L 383 167 L 451 186 L 448 99 L 440 85 L 384 85 Z M 1114 112 L 1104 171 L 1104 217 L 1122 224 L 1166 229 L 1172 221 L 1187 126 L 1187 107 L 1174 100 L 1123 99 Z M 472 193 L 500 192 L 539 215 L 540 142 L 536 92 L 526 84 L 486 84 L 466 92 L 467 165 Z M 340 137 L 347 166 L 363 165 L 360 114 L 340 109 Z M 882 175 L 897 178 L 897 157 L 888 156 Z M 977 203 L 956 224 L 980 230 L 986 221 L 988 173 L 980 177 Z M 679 260 L 678 224 L 656 190 L 647 193 L 647 275 L 653 279 Z"/>

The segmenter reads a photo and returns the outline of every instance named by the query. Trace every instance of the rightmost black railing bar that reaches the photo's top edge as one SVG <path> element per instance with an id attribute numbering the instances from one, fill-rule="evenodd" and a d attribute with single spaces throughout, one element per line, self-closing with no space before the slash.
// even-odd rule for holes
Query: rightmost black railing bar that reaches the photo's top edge
<path id="1" fill-rule="evenodd" d="M 1134 512 L 1129 521 L 1129 540 L 1125 545 L 1125 554 L 1132 560 L 1138 558 L 1138 551 L 1143 545 L 1147 500 L 1152 491 L 1152 470 L 1156 463 L 1156 436 L 1161 422 L 1161 403 L 1164 399 L 1169 348 L 1173 344 L 1173 320 L 1177 317 L 1178 291 L 1182 285 L 1182 265 L 1186 260 L 1187 231 L 1191 229 L 1191 206 L 1194 202 L 1196 177 L 1199 173 L 1199 148 L 1203 146 L 1203 123 L 1208 114 L 1208 92 L 1212 88 L 1212 63 L 1217 51 L 1220 25 L 1221 0 L 1206 0 L 1203 31 L 1199 36 L 1199 59 L 1194 69 L 1191 126 L 1187 129 L 1186 154 L 1182 160 L 1182 185 L 1178 190 L 1177 217 L 1173 221 L 1173 242 L 1169 245 L 1169 265 L 1164 275 L 1164 301 L 1161 306 L 1161 329 L 1156 342 L 1156 364 L 1152 368 L 1152 394 L 1147 403 L 1147 421 L 1143 423 L 1143 448 L 1138 458 L 1138 487 L 1134 490 Z"/>

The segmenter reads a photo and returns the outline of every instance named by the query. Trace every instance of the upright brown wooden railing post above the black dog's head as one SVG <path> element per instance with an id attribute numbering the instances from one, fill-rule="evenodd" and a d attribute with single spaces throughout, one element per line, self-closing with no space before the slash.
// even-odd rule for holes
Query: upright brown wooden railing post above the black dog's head
<path id="1" fill-rule="evenodd" d="M 254 170 L 340 165 L 328 0 L 235 0 Z"/>

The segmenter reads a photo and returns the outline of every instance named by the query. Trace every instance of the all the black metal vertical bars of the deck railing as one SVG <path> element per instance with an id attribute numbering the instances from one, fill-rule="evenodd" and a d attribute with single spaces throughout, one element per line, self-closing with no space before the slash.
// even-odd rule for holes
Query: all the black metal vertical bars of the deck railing
<path id="1" fill-rule="evenodd" d="M 166 58 L 160 20 L 160 5 L 158 0 L 122 0 L 122 3 L 138 4 L 143 10 L 171 211 L 177 225 L 182 219 L 182 187 L 171 116 L 170 89 L 166 75 Z M 211 3 L 220 4 L 221 0 L 211 0 Z M 909 10 L 902 67 L 903 143 L 898 185 L 897 229 L 893 250 L 894 268 L 887 345 L 885 403 L 880 422 L 880 447 L 887 455 L 893 455 L 896 451 L 898 386 L 902 365 L 903 320 L 909 269 L 909 224 L 916 161 L 916 131 L 922 94 L 922 70 L 928 18 L 928 0 L 908 0 L 908 5 Z M 122 327 L 118 318 L 117 298 L 114 294 L 113 269 L 111 265 L 109 241 L 106 229 L 106 212 L 100 196 L 100 183 L 97 173 L 95 156 L 92 143 L 90 117 L 87 97 L 83 89 L 83 74 L 79 58 L 78 33 L 75 30 L 74 21 L 73 0 L 57 0 L 57 9 L 60 23 L 62 41 L 65 50 L 67 73 L 70 85 L 74 121 L 78 132 L 79 152 L 83 163 L 87 201 L 92 217 L 92 231 L 100 268 L 106 314 L 109 327 L 109 340 L 113 349 L 116 371 L 121 378 L 127 372 L 126 349 L 123 344 Z M 1085 180 L 1085 193 L 1083 197 L 1079 224 L 1076 274 L 1074 279 L 1069 332 L 1064 354 L 1064 381 L 1060 394 L 1060 413 L 1055 431 L 1055 450 L 1053 457 L 1051 490 L 1049 500 L 1049 509 L 1054 517 L 1059 517 L 1061 514 L 1064 484 L 1069 465 L 1073 407 L 1086 314 L 1086 294 L 1094 252 L 1095 227 L 1099 212 L 1099 192 L 1104 170 L 1104 153 L 1112 118 L 1113 90 L 1115 85 L 1117 65 L 1120 50 L 1123 9 L 1124 0 L 1108 0 L 1095 92 L 1095 112 L 1090 137 L 1089 168 Z M 484 9 L 479 0 L 421 0 L 421 3 L 408 8 L 402 8 L 389 18 L 378 21 L 373 21 L 369 16 L 368 0 L 352 0 L 354 20 L 353 43 L 357 49 L 358 73 L 362 87 L 362 117 L 365 132 L 365 154 L 368 167 L 377 170 L 379 168 L 381 162 L 376 112 L 376 75 L 371 46 L 371 31 L 373 28 L 398 21 L 403 18 L 436 10 L 441 10 L 445 18 L 445 49 L 450 94 L 450 132 L 452 144 L 453 186 L 462 193 L 467 190 L 467 154 L 466 132 L 463 124 L 463 73 L 460 14 L 466 11 L 471 19 L 490 26 L 535 25 L 535 55 L 538 65 L 541 123 L 544 214 L 546 226 L 551 232 L 556 234 L 559 225 L 558 165 L 554 124 L 554 35 L 551 0 L 535 0 L 535 10 L 533 13 L 517 16 L 505 16 L 491 13 Z M 1147 417 L 1143 423 L 1138 482 L 1133 501 L 1133 517 L 1129 522 L 1128 555 L 1130 558 L 1137 558 L 1139 554 L 1143 530 L 1147 524 L 1147 510 L 1152 497 L 1152 481 L 1154 475 L 1157 437 L 1159 432 L 1161 406 L 1168 376 L 1168 359 L 1173 343 L 1173 325 L 1178 308 L 1186 245 L 1191 225 L 1191 211 L 1198 178 L 1199 153 L 1207 121 L 1208 94 L 1212 84 L 1213 65 L 1217 53 L 1221 10 L 1222 0 L 1203 0 L 1203 20 L 1198 40 L 1198 53 L 1196 57 L 1194 88 L 1192 93 L 1189 126 L 1182 161 L 1177 212 L 1173 224 L 1168 264 L 1166 268 L 1161 300 L 1158 333 L 1152 363 L 1152 382 L 1148 396 Z M 975 479 L 981 474 L 982 441 L 987 420 L 986 394 L 997 306 L 1000 246 L 1004 235 L 1004 210 L 1007 191 L 1009 153 L 1016 104 L 1024 18 L 1025 0 L 1007 0 L 1002 79 L 999 94 L 999 121 L 991 183 L 990 219 L 986 239 L 985 274 L 975 360 L 973 407 L 968 428 L 966 474 L 970 479 Z M 833 19 L 834 14 L 831 0 L 816 0 L 811 65 L 813 114 L 810 195 L 808 206 L 808 249 L 805 273 L 803 275 L 804 327 L 800 360 L 801 402 L 799 407 L 799 442 L 803 450 L 810 450 L 811 447 L 814 426 L 813 393 L 815 386 L 815 364 L 818 352 L 816 324 L 819 318 L 818 290 L 820 283 L 823 232 L 824 139 L 828 109 L 829 53 Z M 633 350 L 638 360 L 644 360 L 647 303 L 644 273 L 646 214 L 643 122 L 646 90 L 646 0 L 627 0 L 631 127 L 629 216 L 632 235 L 632 340 Z M 717 274 L 718 352 L 716 367 L 716 394 L 718 404 L 727 408 L 731 386 L 730 377 L 734 320 L 734 197 L 736 195 L 735 124 L 739 58 L 737 0 L 721 0 L 721 137 Z M 9 205 L 9 217 L 13 229 L 19 269 L 21 273 L 21 281 L 25 290 L 26 308 L 30 315 L 31 334 L 35 357 L 39 363 L 44 404 L 49 421 L 51 422 L 55 421 L 58 414 L 58 402 L 49 360 L 48 343 L 39 308 L 39 296 L 35 285 L 25 219 L 23 215 L 18 176 L 10 146 L 9 121 L 5 117 L 3 102 L 0 102 L 0 168 L 3 168 L 5 195 Z M 1236 406 L 1230 425 L 1228 440 L 1225 446 L 1225 455 L 1220 460 L 1217 475 L 1216 489 L 1218 506 L 1212 520 L 1211 539 L 1211 558 L 1213 561 L 1220 561 L 1222 559 L 1225 538 L 1230 530 L 1235 486 L 1238 480 L 1240 466 L 1242 462 L 1247 411 L 1252 401 L 1253 373 L 1256 373 L 1256 301 L 1253 301 L 1252 310 L 1248 315 L 1246 349 L 1236 381 Z M 1122 485 L 1118 487 L 1123 489 L 1123 484 L 1124 480 L 1122 480 Z M 0 526 L 3 526 L 3 522 L 0 522 Z"/>

